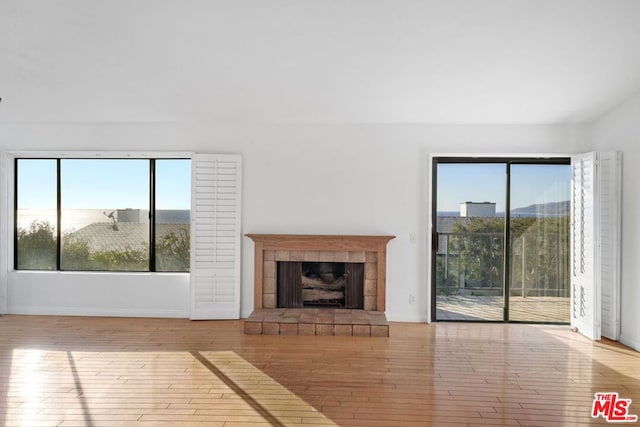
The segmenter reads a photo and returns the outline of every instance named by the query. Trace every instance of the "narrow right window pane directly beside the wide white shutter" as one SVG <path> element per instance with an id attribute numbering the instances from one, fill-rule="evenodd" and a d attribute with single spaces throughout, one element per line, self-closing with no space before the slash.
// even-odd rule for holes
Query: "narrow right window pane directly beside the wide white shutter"
<path id="1" fill-rule="evenodd" d="M 191 161 L 156 161 L 156 271 L 189 271 Z"/>

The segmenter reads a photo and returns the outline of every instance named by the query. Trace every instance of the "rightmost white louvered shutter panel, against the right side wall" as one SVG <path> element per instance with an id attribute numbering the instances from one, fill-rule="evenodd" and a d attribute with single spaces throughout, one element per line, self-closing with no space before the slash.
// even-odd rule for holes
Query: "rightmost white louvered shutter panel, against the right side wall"
<path id="1" fill-rule="evenodd" d="M 621 155 L 598 153 L 601 333 L 620 338 Z"/>

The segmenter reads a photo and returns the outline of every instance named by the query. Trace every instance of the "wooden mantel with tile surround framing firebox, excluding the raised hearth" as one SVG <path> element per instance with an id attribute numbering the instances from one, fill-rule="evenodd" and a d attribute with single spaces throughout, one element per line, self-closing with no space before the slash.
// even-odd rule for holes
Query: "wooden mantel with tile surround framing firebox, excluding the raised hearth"
<path id="1" fill-rule="evenodd" d="M 351 257 L 357 258 L 356 262 L 363 262 L 365 265 L 369 263 L 375 268 L 375 271 L 370 272 L 376 280 L 375 301 L 370 304 L 369 309 L 385 311 L 387 243 L 395 236 L 252 233 L 246 236 L 255 244 L 254 307 L 256 310 L 265 306 L 268 308 L 271 305 L 269 293 L 272 287 L 269 276 L 273 274 L 270 271 L 271 263 L 289 260 L 354 261 L 349 259 Z M 266 258 L 265 252 L 268 254 Z M 269 272 L 265 272 L 265 266 Z M 267 287 L 269 292 L 265 294 Z"/>

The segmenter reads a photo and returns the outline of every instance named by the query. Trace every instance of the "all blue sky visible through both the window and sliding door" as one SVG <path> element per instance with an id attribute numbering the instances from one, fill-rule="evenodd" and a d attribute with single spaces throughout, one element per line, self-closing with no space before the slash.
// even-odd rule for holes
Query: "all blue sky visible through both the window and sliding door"
<path id="1" fill-rule="evenodd" d="M 149 161 L 63 159 L 63 209 L 148 209 Z M 56 207 L 56 162 L 22 159 L 18 167 L 19 208 Z M 512 165 L 511 207 L 569 200 L 569 165 Z M 156 208 L 190 209 L 191 162 L 156 161 Z M 438 211 L 459 211 L 465 201 L 496 203 L 504 211 L 505 164 L 440 163 Z"/>

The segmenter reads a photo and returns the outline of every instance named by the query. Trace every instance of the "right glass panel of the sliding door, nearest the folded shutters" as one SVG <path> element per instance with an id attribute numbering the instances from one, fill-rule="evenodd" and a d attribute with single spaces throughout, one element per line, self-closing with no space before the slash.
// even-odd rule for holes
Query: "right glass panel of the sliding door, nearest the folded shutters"
<path id="1" fill-rule="evenodd" d="M 571 166 L 513 164 L 508 320 L 569 322 Z"/>

